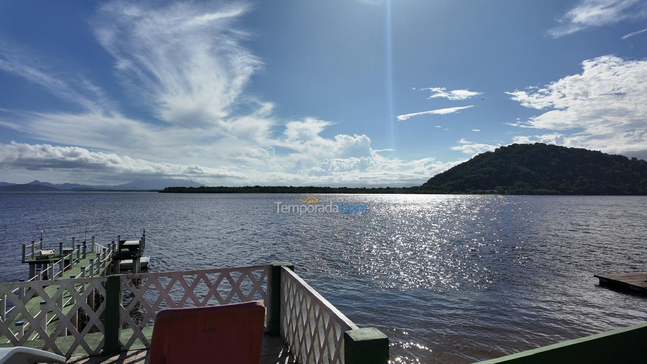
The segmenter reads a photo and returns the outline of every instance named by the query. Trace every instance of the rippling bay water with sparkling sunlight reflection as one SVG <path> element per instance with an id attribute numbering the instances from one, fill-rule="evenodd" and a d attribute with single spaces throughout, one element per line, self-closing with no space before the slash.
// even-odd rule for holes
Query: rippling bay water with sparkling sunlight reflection
<path id="1" fill-rule="evenodd" d="M 146 227 L 154 271 L 293 262 L 395 363 L 472 363 L 647 321 L 593 274 L 647 270 L 647 197 L 321 195 L 362 215 L 281 214 L 292 194 L 0 194 L 0 282 L 21 243 Z M 305 219 L 305 221 L 304 221 Z M 312 219 L 312 220 L 309 220 Z"/>

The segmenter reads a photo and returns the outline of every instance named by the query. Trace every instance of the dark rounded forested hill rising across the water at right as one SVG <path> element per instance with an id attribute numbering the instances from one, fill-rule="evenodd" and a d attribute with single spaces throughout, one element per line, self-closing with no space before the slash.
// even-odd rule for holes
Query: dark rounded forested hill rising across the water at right
<path id="1" fill-rule="evenodd" d="M 421 186 L 428 193 L 647 194 L 647 162 L 542 143 L 476 155 Z"/>

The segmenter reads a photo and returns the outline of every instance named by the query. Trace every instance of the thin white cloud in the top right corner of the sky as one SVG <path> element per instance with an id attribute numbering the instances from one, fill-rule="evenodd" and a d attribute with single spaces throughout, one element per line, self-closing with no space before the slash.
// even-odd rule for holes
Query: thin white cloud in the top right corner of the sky
<path id="1" fill-rule="evenodd" d="M 646 16 L 647 7 L 641 0 L 580 0 L 575 7 L 557 19 L 560 25 L 549 30 L 548 34 L 559 38 L 580 30 Z"/>

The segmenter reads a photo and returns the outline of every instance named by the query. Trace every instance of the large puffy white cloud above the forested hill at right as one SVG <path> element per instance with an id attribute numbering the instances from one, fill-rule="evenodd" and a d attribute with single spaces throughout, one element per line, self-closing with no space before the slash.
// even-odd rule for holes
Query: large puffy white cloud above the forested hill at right
<path id="1" fill-rule="evenodd" d="M 609 55 L 586 60 L 582 68 L 549 85 L 508 93 L 522 106 L 546 110 L 510 125 L 560 130 L 567 146 L 646 155 L 647 60 Z"/>

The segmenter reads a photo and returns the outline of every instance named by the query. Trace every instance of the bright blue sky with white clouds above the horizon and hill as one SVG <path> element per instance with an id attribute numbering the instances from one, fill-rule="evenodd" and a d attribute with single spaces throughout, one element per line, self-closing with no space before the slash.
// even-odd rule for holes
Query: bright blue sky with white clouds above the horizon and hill
<path id="1" fill-rule="evenodd" d="M 0 2 L 0 181 L 420 185 L 647 158 L 647 1 Z"/>

